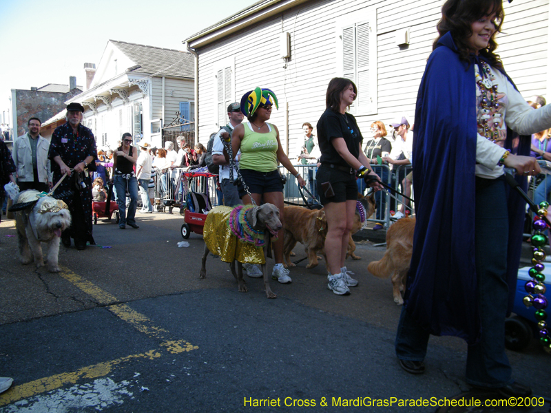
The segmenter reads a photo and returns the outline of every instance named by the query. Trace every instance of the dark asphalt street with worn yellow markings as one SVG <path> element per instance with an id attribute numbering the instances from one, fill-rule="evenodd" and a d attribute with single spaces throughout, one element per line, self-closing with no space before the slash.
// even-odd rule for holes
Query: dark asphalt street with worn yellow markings
<path id="1" fill-rule="evenodd" d="M 292 284 L 271 282 L 278 298 L 267 299 L 262 279 L 245 276 L 249 292 L 239 293 L 212 255 L 199 279 L 202 236 L 178 248 L 176 209 L 139 214 L 137 230 L 100 220 L 97 246 L 61 246 L 57 274 L 21 265 L 5 218 L 0 376 L 14 385 L 0 394 L 0 413 L 434 412 L 430 403 L 468 390 L 460 339 L 431 337 L 425 374 L 399 367 L 401 308 L 390 279 L 366 270 L 384 253 L 371 242 L 357 244 L 362 260 L 347 262 L 360 282 L 351 295 L 327 289 L 323 262 L 302 261 Z M 295 253 L 304 257 L 300 244 Z M 515 379 L 551 396 L 551 354 L 534 339 L 508 355 Z"/>

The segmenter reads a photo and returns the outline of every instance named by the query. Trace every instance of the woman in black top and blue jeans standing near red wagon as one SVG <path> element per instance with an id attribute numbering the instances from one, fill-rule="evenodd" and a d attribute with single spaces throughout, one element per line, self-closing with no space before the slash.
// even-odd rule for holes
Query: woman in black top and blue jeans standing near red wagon
<path id="1" fill-rule="evenodd" d="M 115 151 L 113 163 L 114 184 L 116 188 L 116 202 L 121 219 L 118 228 L 126 229 L 126 224 L 134 229 L 136 225 L 136 205 L 138 204 L 138 180 L 134 173 L 134 166 L 138 160 L 138 149 L 132 145 L 132 135 L 123 134 L 123 145 Z M 126 211 L 126 193 L 130 195 L 130 204 Z"/>

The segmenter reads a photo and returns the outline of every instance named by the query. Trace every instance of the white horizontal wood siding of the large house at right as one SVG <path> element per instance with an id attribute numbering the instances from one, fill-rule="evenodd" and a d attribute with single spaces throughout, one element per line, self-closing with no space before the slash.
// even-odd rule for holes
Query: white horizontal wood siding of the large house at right
<path id="1" fill-rule="evenodd" d="M 417 89 L 426 59 L 437 37 L 436 23 L 443 0 L 316 0 L 302 3 L 277 17 L 231 34 L 197 50 L 199 55 L 198 139 L 207 142 L 216 126 L 214 67 L 233 56 L 235 100 L 253 87 L 269 87 L 280 100 L 271 122 L 285 142 L 289 105 L 289 158 L 294 162 L 303 142 L 302 123 L 314 127 L 324 112 L 329 80 L 339 72 L 337 21 L 366 9 L 377 10 L 377 114 L 357 116 L 364 136 L 375 120 L 388 124 L 415 115 Z M 549 0 L 504 2 L 506 19 L 498 52 L 508 73 L 526 98 L 547 93 Z M 395 30 L 410 28 L 410 44 L 395 45 Z M 291 34 L 291 59 L 280 59 L 279 34 Z M 315 131 L 314 131 L 315 133 Z"/>

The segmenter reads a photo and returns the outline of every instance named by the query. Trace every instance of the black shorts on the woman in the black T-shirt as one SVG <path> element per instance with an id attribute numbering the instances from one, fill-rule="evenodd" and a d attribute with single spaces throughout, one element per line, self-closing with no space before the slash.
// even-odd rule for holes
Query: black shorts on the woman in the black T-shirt
<path id="1" fill-rule="evenodd" d="M 331 198 L 325 197 L 322 189 L 322 184 L 324 182 L 331 182 L 331 187 L 333 187 L 335 196 L 332 196 Z M 322 165 L 318 168 L 318 172 L 315 174 L 315 184 L 318 189 L 318 195 L 320 195 L 320 202 L 322 205 L 329 204 L 329 202 L 357 200 L 357 185 L 356 176 L 354 173 L 344 172 Z"/>

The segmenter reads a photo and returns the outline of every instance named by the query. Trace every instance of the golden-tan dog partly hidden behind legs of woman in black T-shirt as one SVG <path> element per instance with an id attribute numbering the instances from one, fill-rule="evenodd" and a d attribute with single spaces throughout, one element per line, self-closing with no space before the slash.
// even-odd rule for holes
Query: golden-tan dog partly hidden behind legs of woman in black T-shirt
<path id="1" fill-rule="evenodd" d="M 360 202 L 366 209 L 366 218 L 369 218 L 375 212 L 375 197 L 373 194 L 366 198 L 360 199 Z M 295 266 L 291 262 L 291 251 L 295 248 L 297 242 L 304 245 L 304 251 L 308 255 L 308 264 L 306 268 L 313 268 L 318 265 L 318 253 L 325 256 L 324 245 L 327 235 L 327 219 L 324 209 L 306 209 L 304 207 L 289 206 L 284 208 L 285 223 L 284 241 L 283 241 L 283 257 L 287 266 Z M 354 254 L 356 244 L 352 239 L 352 235 L 362 229 L 360 214 L 354 214 L 354 224 L 351 231 L 348 251 L 346 257 L 351 256 L 353 260 L 360 260 Z"/>

